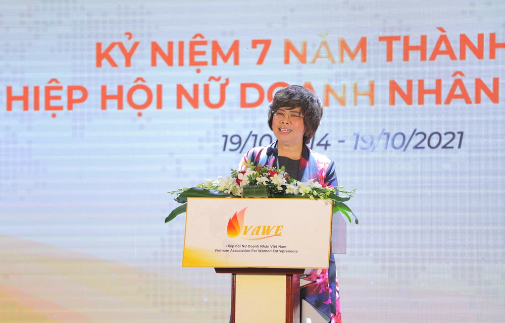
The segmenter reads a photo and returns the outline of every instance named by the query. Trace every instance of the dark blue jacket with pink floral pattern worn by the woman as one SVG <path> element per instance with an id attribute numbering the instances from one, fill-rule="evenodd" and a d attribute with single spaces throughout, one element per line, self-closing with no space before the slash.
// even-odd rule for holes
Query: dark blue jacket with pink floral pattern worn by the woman
<path id="1" fill-rule="evenodd" d="M 240 160 L 239 170 L 246 168 L 247 160 L 250 159 L 255 166 L 275 166 L 274 156 L 267 156 L 267 148 L 275 148 L 277 142 L 267 146 L 255 147 L 245 153 Z M 298 180 L 307 182 L 315 180 L 322 186 L 337 186 L 335 163 L 323 154 L 312 151 L 305 145 L 301 151 L 300 164 L 298 167 Z M 306 277 L 300 277 L 307 284 L 300 288 L 301 299 L 311 304 L 326 321 L 341 323 L 340 297 L 338 292 L 338 280 L 335 270 L 335 259 L 330 254 L 328 269 L 312 270 Z M 302 307 L 303 309 L 303 307 Z"/>

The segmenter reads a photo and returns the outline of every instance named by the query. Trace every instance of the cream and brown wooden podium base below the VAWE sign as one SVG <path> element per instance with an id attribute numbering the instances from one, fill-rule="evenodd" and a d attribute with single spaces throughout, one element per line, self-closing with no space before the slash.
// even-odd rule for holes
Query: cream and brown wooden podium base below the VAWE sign
<path id="1" fill-rule="evenodd" d="M 215 268 L 231 273 L 231 323 L 299 323 L 300 274 L 280 268 Z"/>

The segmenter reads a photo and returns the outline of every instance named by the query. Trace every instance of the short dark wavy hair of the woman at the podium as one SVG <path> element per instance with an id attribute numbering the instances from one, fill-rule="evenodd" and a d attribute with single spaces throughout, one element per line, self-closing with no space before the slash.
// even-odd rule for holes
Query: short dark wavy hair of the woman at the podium
<path id="1" fill-rule="evenodd" d="M 304 116 L 304 142 L 309 143 L 314 137 L 321 118 L 323 117 L 323 104 L 316 93 L 300 85 L 290 85 L 275 93 L 272 102 L 268 105 L 268 126 L 272 129 L 274 113 L 281 107 L 287 110 L 300 108 Z"/>

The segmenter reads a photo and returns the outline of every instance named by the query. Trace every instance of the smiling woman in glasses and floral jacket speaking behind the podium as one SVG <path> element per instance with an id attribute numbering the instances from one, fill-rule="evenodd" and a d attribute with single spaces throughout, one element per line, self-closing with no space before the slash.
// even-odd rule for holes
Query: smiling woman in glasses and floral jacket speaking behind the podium
<path id="1" fill-rule="evenodd" d="M 300 182 L 313 179 L 322 186 L 336 187 L 333 161 L 312 151 L 307 145 L 316 133 L 322 116 L 321 100 L 311 90 L 291 85 L 277 91 L 268 111 L 268 125 L 277 141 L 247 151 L 240 161 L 239 170 L 244 170 L 247 159 L 250 159 L 255 165 L 284 166 L 289 176 Z M 267 155 L 268 147 L 273 148 L 273 155 Z M 310 218 L 299 220 L 310 221 Z M 301 322 L 305 323 L 305 318 L 310 318 L 313 323 L 341 322 L 333 254 L 330 254 L 328 269 L 312 270 L 309 275 L 301 276 L 300 286 Z"/>

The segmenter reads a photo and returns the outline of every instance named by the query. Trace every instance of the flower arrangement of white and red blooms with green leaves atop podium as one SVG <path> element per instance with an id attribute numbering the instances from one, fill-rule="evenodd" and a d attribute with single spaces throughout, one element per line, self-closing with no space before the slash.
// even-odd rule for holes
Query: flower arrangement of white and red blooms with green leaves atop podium
<path id="1" fill-rule="evenodd" d="M 172 221 L 179 214 L 186 211 L 188 197 L 273 197 L 273 198 L 310 198 L 327 199 L 333 202 L 333 213 L 340 211 L 351 223 L 349 213 L 358 218 L 351 209 L 343 202 L 348 201 L 356 189 L 352 191 L 342 190 L 342 186 L 322 186 L 319 182 L 310 180 L 299 182 L 289 177 L 281 168 L 254 166 L 250 160 L 244 171 L 231 170 L 231 176 L 218 177 L 215 180 L 206 180 L 204 184 L 196 187 L 182 188 L 169 192 L 177 194 L 175 200 L 182 203 L 172 210 L 165 219 L 165 223 Z M 339 196 L 342 193 L 345 196 Z"/>

